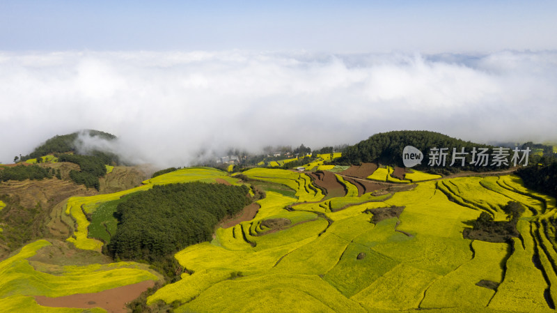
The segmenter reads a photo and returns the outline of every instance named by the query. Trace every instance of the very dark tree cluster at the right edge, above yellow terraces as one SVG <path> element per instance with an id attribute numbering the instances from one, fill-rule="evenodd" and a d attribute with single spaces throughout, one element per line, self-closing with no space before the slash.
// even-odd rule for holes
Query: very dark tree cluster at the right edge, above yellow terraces
<path id="1" fill-rule="evenodd" d="M 557 197 L 557 160 L 540 164 L 521 167 L 515 173 L 526 187 Z"/>

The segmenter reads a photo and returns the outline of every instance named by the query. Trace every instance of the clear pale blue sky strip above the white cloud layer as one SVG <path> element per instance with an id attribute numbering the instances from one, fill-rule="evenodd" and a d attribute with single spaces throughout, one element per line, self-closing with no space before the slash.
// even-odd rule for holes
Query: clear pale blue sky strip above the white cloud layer
<path id="1" fill-rule="evenodd" d="M 557 1 L 0 1 L 0 50 L 557 49 Z"/>

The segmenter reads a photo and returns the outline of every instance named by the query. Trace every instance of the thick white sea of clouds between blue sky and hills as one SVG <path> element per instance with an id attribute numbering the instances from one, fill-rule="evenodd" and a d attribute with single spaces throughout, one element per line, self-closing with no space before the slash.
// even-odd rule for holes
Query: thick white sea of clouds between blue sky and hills
<path id="1" fill-rule="evenodd" d="M 487 142 L 557 139 L 557 52 L 0 53 L 0 162 L 83 128 L 157 165 L 198 151 L 313 148 L 434 130 Z"/>

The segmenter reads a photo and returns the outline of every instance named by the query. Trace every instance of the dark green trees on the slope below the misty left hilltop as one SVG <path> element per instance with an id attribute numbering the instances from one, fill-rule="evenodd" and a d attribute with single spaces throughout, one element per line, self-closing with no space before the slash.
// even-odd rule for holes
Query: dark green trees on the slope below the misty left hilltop
<path id="1" fill-rule="evenodd" d="M 94 155 L 63 154 L 58 156 L 60 162 L 72 162 L 79 165 L 80 171 L 72 169 L 70 178 L 77 184 L 99 190 L 99 178 L 107 174 L 103 158 Z"/>

